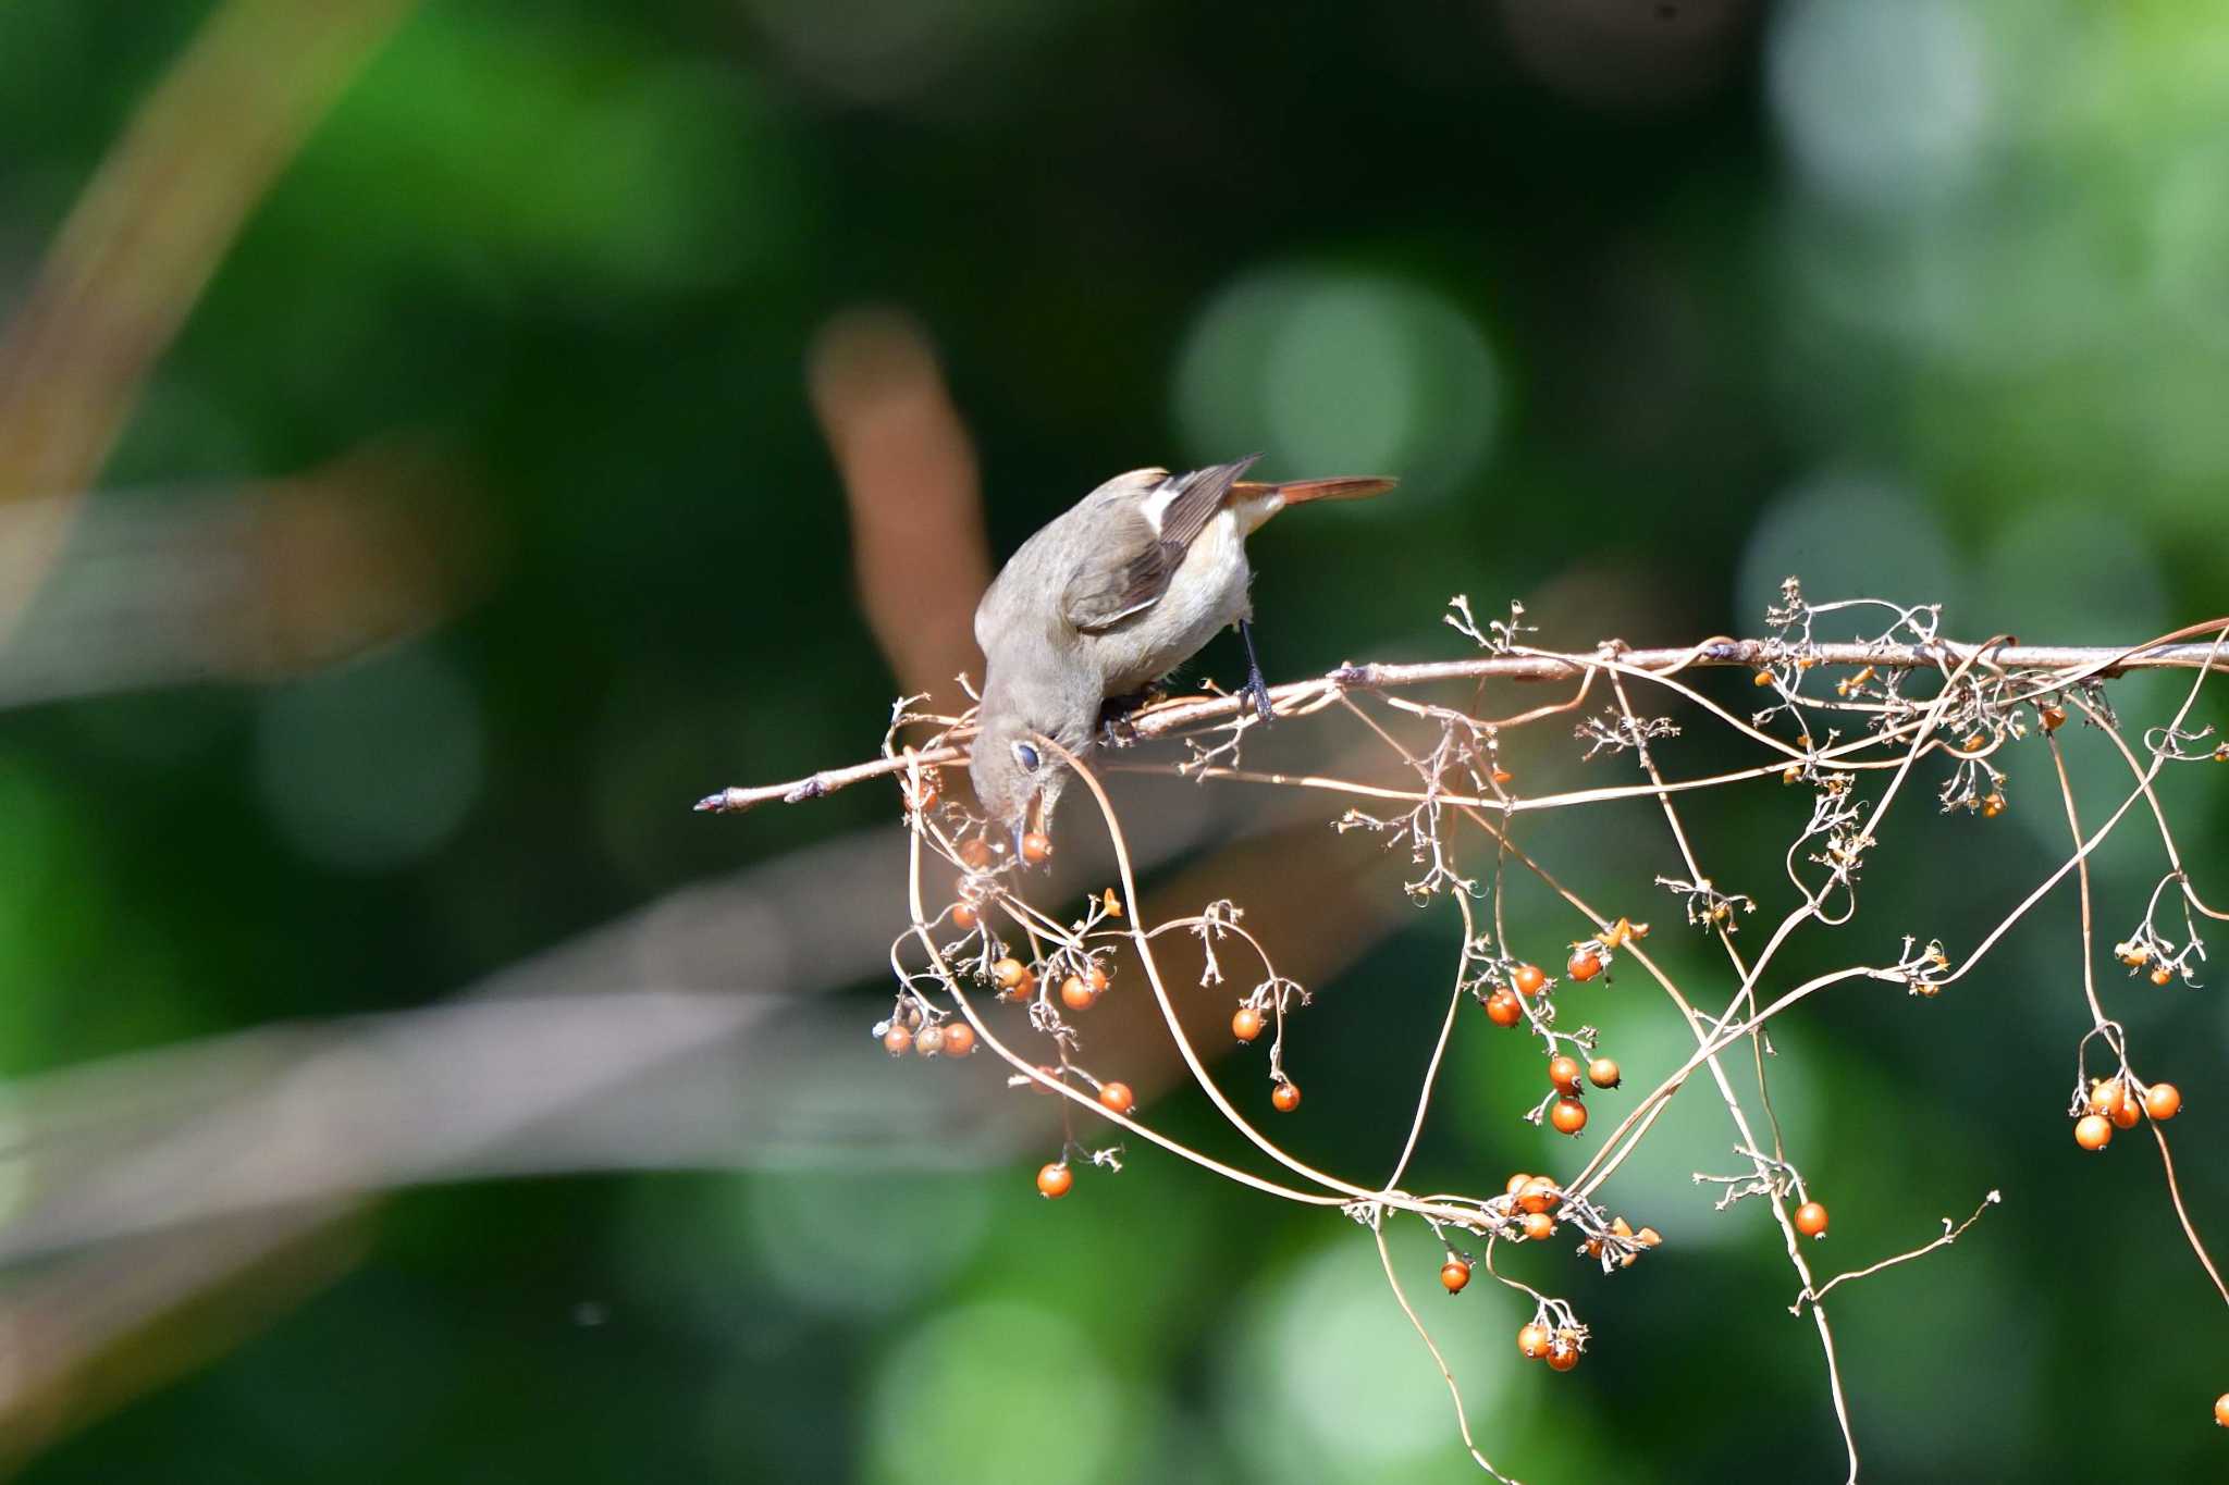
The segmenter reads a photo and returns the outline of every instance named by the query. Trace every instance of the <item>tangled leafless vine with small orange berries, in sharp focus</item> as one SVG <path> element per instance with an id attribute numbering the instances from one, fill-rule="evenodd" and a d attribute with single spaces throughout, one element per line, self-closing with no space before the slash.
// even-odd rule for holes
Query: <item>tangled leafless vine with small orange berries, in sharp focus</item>
<path id="1" fill-rule="evenodd" d="M 1228 1013 L 1230 1035 L 1239 1044 L 1237 1066 L 1255 1069 L 1268 1109 L 1291 1115 L 1302 1107 L 1302 1093 L 1288 1071 L 1288 1051 L 1306 1022 L 1308 991 L 1277 971 L 1271 946 L 1246 926 L 1246 913 L 1235 902 L 1217 899 L 1197 913 L 1146 922 L 1128 842 L 1101 779 L 1052 739 L 1041 741 L 1077 768 L 1114 853 L 1114 882 L 1072 913 L 1030 899 L 1028 866 L 1050 857 L 1052 842 L 1025 842 L 1023 859 L 1010 859 L 1005 846 L 992 839 L 996 833 L 985 833 L 965 806 L 943 799 L 938 766 L 963 757 L 958 744 L 967 737 L 970 717 L 909 710 L 918 699 L 894 708 L 878 764 L 823 773 L 794 786 L 727 790 L 707 799 L 704 808 L 814 797 L 867 777 L 896 775 L 912 848 L 912 902 L 909 924 L 889 955 L 896 1004 L 874 1026 L 885 1049 L 892 1055 L 967 1058 L 981 1044 L 1005 1062 L 1012 1084 L 1059 1095 L 1068 1122 L 1057 1158 L 1036 1173 L 1036 1189 L 1045 1198 L 1063 1198 L 1077 1187 L 1077 1164 L 1121 1169 L 1121 1135 L 1135 1135 L 1268 1196 L 1344 1211 L 1373 1236 L 1395 1302 L 1440 1360 L 1464 1447 L 1500 1481 L 1509 1476 L 1473 1436 L 1460 1387 L 1409 1300 L 1406 1282 L 1386 1249 L 1386 1222 L 1415 1220 L 1438 1236 L 1438 1278 L 1449 1296 L 1467 1294 L 1478 1269 L 1518 1296 L 1511 1316 L 1518 1351 L 1545 1360 L 1554 1371 L 1569 1371 L 1594 1345 L 1583 1316 L 1569 1300 L 1498 1269 L 1496 1251 L 1500 1245 L 1560 1238 L 1574 1258 L 1603 1273 L 1636 1267 L 1665 1238 L 1654 1227 L 1636 1227 L 1634 1218 L 1607 1209 L 1603 1189 L 1641 1151 L 1665 1102 L 1701 1073 L 1696 1086 L 1712 1086 L 1723 1102 L 1736 1164 L 1725 1173 L 1698 1171 L 1694 1180 L 1721 1189 L 1719 1211 L 1754 1200 L 1781 1227 L 1799 1280 L 1794 1311 L 1808 1311 L 1817 1327 L 1855 1478 L 1857 1443 L 1823 1302 L 1828 1291 L 1955 1242 L 1999 1198 L 1990 1191 L 1966 1222 L 1953 1225 L 1946 1218 L 1939 1236 L 1910 1251 L 1814 1280 L 1805 1249 L 1810 1240 L 1828 1236 L 1828 1209 L 1812 1196 L 1772 1113 L 1768 1024 L 1812 995 L 1848 984 L 1881 982 L 1904 986 L 1915 997 L 1935 997 L 1975 973 L 2004 935 L 2066 877 L 2075 877 L 2080 886 L 2086 948 L 2080 980 L 2091 1011 L 2091 1031 L 2075 1049 L 2069 1109 L 2075 1140 L 2084 1149 L 2104 1149 L 2115 1131 L 2149 1122 L 2191 1249 L 2229 1302 L 2229 1287 L 2222 1287 L 2182 1207 L 2162 1131 L 2180 1111 L 2182 1095 L 2169 1082 L 2138 1075 L 2124 1029 L 2106 1017 L 2097 1000 L 2100 951 L 2093 944 L 2089 873 L 2097 844 L 2126 815 L 2144 810 L 2155 824 L 2167 871 L 2142 922 L 2111 946 L 2111 964 L 2160 986 L 2196 989 L 2204 962 L 2200 919 L 2229 915 L 2209 906 L 2193 886 L 2153 784 L 2169 766 L 2229 759 L 2229 746 L 2211 741 L 2211 728 L 2191 724 L 2204 681 L 2229 670 L 2229 621 L 2191 626 L 2131 650 L 2033 650 L 2008 641 L 1973 646 L 1944 639 L 1941 610 L 1933 603 L 1810 603 L 1790 579 L 1781 601 L 1768 612 L 1770 635 L 1763 639 L 1716 639 L 1690 650 L 1656 652 L 1634 652 L 1609 641 L 1592 652 L 1551 652 L 1529 643 L 1534 630 L 1522 623 L 1522 612 L 1511 603 L 1509 619 L 1480 626 L 1471 606 L 1458 597 L 1447 623 L 1478 646 L 1478 657 L 1458 663 L 1342 666 L 1317 681 L 1273 692 L 1282 717 L 1342 712 L 1360 724 L 1384 744 L 1389 766 L 1398 770 L 1391 784 L 1248 773 L 1242 766 L 1242 744 L 1259 724 L 1228 697 L 1177 697 L 1132 712 L 1121 724 L 1123 746 L 1161 737 L 1186 744 L 1181 761 L 1143 764 L 1148 768 L 1184 773 L 1201 784 L 1253 781 L 1344 795 L 1351 804 L 1328 824 L 1335 830 L 1375 833 L 1413 868 L 1404 873 L 1402 891 L 1418 904 L 1447 904 L 1462 919 L 1462 946 L 1447 982 L 1449 1006 L 1429 1071 L 1415 1091 L 1409 1138 L 1380 1178 L 1357 1180 L 1306 1164 L 1264 1133 L 1257 1115 L 1226 1091 L 1208 1066 L 1208 1051 L 1188 1033 L 1179 997 L 1215 1002 L 1217 1024 Z M 1859 626 L 1855 639 L 1821 637 L 1826 628 L 1850 623 Z M 1748 715 L 1730 710 L 1701 686 L 1701 672 L 1714 666 L 1745 668 L 1754 690 L 1770 692 L 1768 704 Z M 2191 670 L 2191 686 L 2169 721 L 2131 741 L 2106 699 L 2109 681 L 2124 670 L 2167 666 Z M 1507 717 L 1398 695 L 1502 675 L 1563 679 L 1569 695 Z M 1759 761 L 1710 777 L 1667 777 L 1658 750 L 1678 739 L 1683 728 L 1672 717 L 1638 710 L 1632 697 L 1641 688 L 1649 688 L 1647 695 L 1661 706 L 1727 728 L 1759 753 Z M 1485 688 L 1476 686 L 1471 695 L 1471 706 L 1478 706 L 1476 697 Z M 1592 759 L 1594 768 L 1625 768 L 1629 777 L 1580 790 L 1525 793 L 1502 761 L 1502 739 L 1556 717 L 1576 717 L 1567 726 L 1576 732 L 1583 759 Z M 2089 826 L 2080 817 L 2060 750 L 2060 730 L 2069 721 L 2095 728 L 2126 764 L 2126 790 L 2106 819 Z M 1797 982 L 1777 968 L 1783 946 L 1799 931 L 1832 928 L 1857 915 L 1866 862 L 1901 797 L 1933 788 L 1941 810 L 1995 819 L 2013 808 L 2015 761 L 2024 799 L 2055 795 L 2064 806 L 2069 855 L 1995 928 L 1966 946 L 1962 957 L 1917 931 L 1901 937 L 1895 962 L 1850 964 Z M 1734 884 L 1710 871 L 1678 813 L 1685 793 L 1750 784 L 1803 788 L 1810 795 L 1808 817 L 1783 853 L 1792 893 L 1754 882 L 1739 884 L 1748 891 L 1734 891 Z M 1652 801 L 1661 810 L 1683 875 L 1658 875 L 1652 886 L 1634 884 L 1632 897 L 1596 906 L 1571 893 L 1518 835 L 1527 815 L 1618 799 Z M 1070 828 L 1077 828 L 1074 822 Z M 932 902 L 932 862 L 956 873 L 956 886 L 943 906 Z M 1578 919 L 1578 935 L 1558 944 L 1551 955 L 1540 944 L 1549 933 L 1545 926 L 1525 922 L 1513 928 L 1505 922 L 1502 888 L 1511 873 L 1527 873 L 1545 884 Z M 1636 919 L 1652 915 L 1645 906 L 1649 891 L 1667 893 L 1685 926 L 1714 940 L 1723 953 L 1723 989 L 1707 1009 L 1647 953 L 1649 928 Z M 941 895 L 943 888 L 934 893 Z M 1783 908 L 1763 942 L 1750 942 L 1752 928 L 1736 946 L 1736 933 L 1772 897 L 1783 899 Z M 1204 951 L 1204 968 L 1190 986 L 1170 984 L 1155 953 L 1168 935 L 1188 935 Z M 1554 964 L 1554 973 L 1542 964 Z M 1567 1013 L 1612 980 L 1652 984 L 1692 1037 L 1692 1051 L 1674 1066 L 1647 1069 L 1652 1078 L 1641 1080 L 1645 1091 L 1634 1091 L 1629 1069 L 1605 1053 L 1603 1031 L 1592 1024 L 1565 1029 L 1576 1020 Z M 1155 1000 L 1197 1093 L 1246 1138 L 1273 1173 L 1210 1158 L 1139 1118 L 1137 1095 L 1117 1080 L 1121 1069 L 1099 1066 L 1086 1035 L 1092 1009 L 1103 997 L 1123 993 Z M 1019 1006 L 1019 1015 L 996 1011 L 996 1002 Z M 1592 1153 L 1574 1153 L 1576 1169 L 1560 1176 L 1520 1171 L 1487 1193 L 1420 1196 L 1404 1189 L 1449 1040 L 1464 1020 L 1464 1002 L 1482 1011 L 1491 1033 L 1516 1031 L 1538 1042 L 1542 1082 L 1511 1093 L 1513 1118 L 1574 1138 L 1600 1131 Z M 1030 1051 L 1023 1049 L 1025 1037 Z M 1264 1037 L 1266 1049 L 1255 1051 L 1253 1044 Z M 1739 1066 L 1727 1055 L 1736 1051 L 1745 1053 Z M 2095 1075 L 2093 1058 L 2102 1058 Z M 1759 1093 L 1754 1109 L 1745 1100 L 1745 1086 L 1736 1084 L 1736 1073 L 1754 1080 L 1748 1082 Z M 1607 1104 L 1607 1113 L 1594 1118 L 1600 1104 Z M 1112 1127 L 1099 1135 L 1103 1142 L 1079 1133 L 1079 1115 L 1097 1120 L 1090 1129 Z M 1574 1151 L 1587 1149 L 1574 1144 Z"/>

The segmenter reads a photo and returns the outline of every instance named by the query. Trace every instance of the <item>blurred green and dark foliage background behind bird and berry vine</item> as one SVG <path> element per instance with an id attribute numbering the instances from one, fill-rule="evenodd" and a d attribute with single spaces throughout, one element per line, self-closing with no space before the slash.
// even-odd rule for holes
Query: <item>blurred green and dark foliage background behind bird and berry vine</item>
<path id="1" fill-rule="evenodd" d="M 303 65 L 343 13 L 361 36 Z M 156 116 L 154 165 L 100 207 L 218 29 L 223 85 Z M 305 76 L 328 91 L 263 136 L 267 189 L 241 180 L 227 129 Z M 196 218 L 227 191 L 236 232 Z M 189 238 L 214 276 L 165 289 L 172 336 L 132 318 L 158 283 L 134 265 Z M 878 646 L 860 612 L 869 505 L 829 456 L 878 387 L 952 414 L 925 439 L 958 510 L 981 472 L 994 554 L 1143 463 L 1400 474 L 1255 541 L 1273 679 L 1458 655 L 1451 592 L 1525 599 L 1565 648 L 1756 632 L 1788 572 L 1941 601 L 1968 639 L 2122 643 L 2229 608 L 2229 13 L 2180 0 L 13 0 L 0 307 L 0 1423 L 40 1483 L 1473 1474 L 1349 1222 L 1143 1149 L 1041 1202 L 1041 1104 L 985 1058 L 883 1058 L 887 788 L 689 813 L 880 739 L 892 626 Z M 82 479 L 22 452 L 105 376 Z M 892 448 L 903 472 L 916 445 Z M 869 563 L 869 601 L 934 608 L 921 541 L 896 570 L 918 590 Z M 2115 688 L 2138 726 L 2180 695 Z M 1513 746 L 1527 784 L 1629 777 L 1583 770 L 1560 724 Z M 2071 753 L 2102 819 L 2118 764 Z M 1690 726 L 1667 764 L 1727 757 Z M 2048 759 L 2008 757 L 2015 810 L 1912 799 L 1857 924 L 1799 940 L 1783 984 L 1901 933 L 1959 955 L 2064 855 Z M 2216 899 L 2220 775 L 2162 786 Z M 1311 808 L 1293 839 L 1384 915 L 1322 951 L 1351 964 L 1313 986 L 1291 1129 L 1371 1178 L 1456 924 Z M 1774 917 L 1803 808 L 1772 786 L 1692 817 Z M 2100 853 L 2104 942 L 2164 871 L 2147 830 Z M 1676 862 L 1658 817 L 1536 844 L 1723 1000 L 1649 886 Z M 1511 897 L 1520 951 L 1576 935 Z M 593 1017 L 531 1053 L 499 1024 L 444 1071 L 426 1017 L 506 991 L 756 1004 L 611 1086 Z M 2184 1193 L 2229 1231 L 2229 1020 L 2209 991 L 2104 995 L 2184 1089 Z M 1681 1058 L 1638 975 L 1583 1015 L 1632 1082 Z M 2006 1196 L 1837 1296 L 1870 1478 L 2229 1476 L 2229 1316 L 2149 1140 L 2066 1138 L 2086 1024 L 2060 893 L 1937 1002 L 1852 989 L 1774 1037 L 1834 1209 L 1823 1271 Z M 424 1040 L 363 1064 L 328 1040 L 354 1026 Z M 1569 1160 L 1516 1120 L 1513 1042 L 1460 1022 L 1418 1189 Z M 1253 1058 L 1228 1073 L 1259 1109 Z M 272 1102 L 234 1129 L 250 1091 Z M 1511 1260 L 1594 1322 L 1569 1376 L 1518 1363 L 1505 1291 L 1424 1296 L 1438 1258 L 1398 1231 L 1507 1469 L 1839 1478 L 1777 1231 L 1690 1182 L 1734 1169 L 1710 1098 L 1609 1187 L 1672 1238 L 1645 1267 Z M 452 1115 L 497 1133 L 450 1149 Z M 1197 1098 L 1146 1115 L 1224 1149 Z M 178 1131 L 196 1162 L 163 1153 Z M 194 1204 L 261 1189 L 296 1133 L 328 1142 L 303 1169 L 366 1144 L 392 1180 Z M 118 1171 L 62 1236 L 20 1236 Z"/>

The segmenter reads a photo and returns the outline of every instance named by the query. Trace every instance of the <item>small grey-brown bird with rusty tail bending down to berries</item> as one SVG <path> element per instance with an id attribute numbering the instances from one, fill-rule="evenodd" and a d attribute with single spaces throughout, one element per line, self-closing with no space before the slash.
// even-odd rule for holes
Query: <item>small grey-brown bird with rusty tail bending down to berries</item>
<path id="1" fill-rule="evenodd" d="M 983 690 L 967 773 L 985 817 L 1021 842 L 1050 830 L 1068 768 L 1041 739 L 1092 748 L 1110 701 L 1143 692 L 1226 626 L 1246 643 L 1246 695 L 1271 719 L 1253 646 L 1246 537 L 1286 505 L 1357 501 L 1382 476 L 1242 479 L 1262 454 L 1188 474 L 1130 470 L 1045 523 L 976 606 Z"/>

